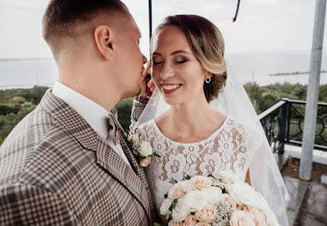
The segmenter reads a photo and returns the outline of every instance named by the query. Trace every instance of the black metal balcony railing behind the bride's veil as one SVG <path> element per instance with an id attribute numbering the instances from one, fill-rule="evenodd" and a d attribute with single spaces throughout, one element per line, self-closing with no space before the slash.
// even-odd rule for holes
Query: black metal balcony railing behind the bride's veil
<path id="1" fill-rule="evenodd" d="M 301 146 L 305 105 L 283 98 L 258 116 L 274 152 L 284 154 L 284 144 Z M 314 149 L 327 151 L 327 103 L 318 103 Z"/>

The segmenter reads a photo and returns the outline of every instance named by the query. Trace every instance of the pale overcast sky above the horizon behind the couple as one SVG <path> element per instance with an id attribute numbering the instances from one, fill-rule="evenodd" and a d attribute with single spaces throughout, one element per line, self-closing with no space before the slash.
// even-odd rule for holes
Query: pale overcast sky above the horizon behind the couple
<path id="1" fill-rule="evenodd" d="M 141 50 L 148 57 L 148 0 L 123 1 L 142 32 Z M 0 58 L 52 57 L 43 41 L 41 19 L 48 1 L 0 1 Z M 153 28 L 165 16 L 197 14 L 209 18 L 223 33 L 226 54 L 310 53 L 315 0 L 153 0 Z M 326 31 L 325 26 L 325 31 Z M 327 33 L 324 52 L 327 49 Z"/>

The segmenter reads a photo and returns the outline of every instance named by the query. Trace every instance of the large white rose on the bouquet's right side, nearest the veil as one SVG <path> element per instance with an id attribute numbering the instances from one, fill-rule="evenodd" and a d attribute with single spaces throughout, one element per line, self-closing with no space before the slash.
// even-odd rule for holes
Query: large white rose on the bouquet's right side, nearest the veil
<path id="1" fill-rule="evenodd" d="M 248 185 L 247 183 L 231 183 L 228 184 L 226 190 L 229 195 L 235 200 L 235 203 L 238 205 L 250 205 L 256 206 L 256 192 L 255 190 Z"/>

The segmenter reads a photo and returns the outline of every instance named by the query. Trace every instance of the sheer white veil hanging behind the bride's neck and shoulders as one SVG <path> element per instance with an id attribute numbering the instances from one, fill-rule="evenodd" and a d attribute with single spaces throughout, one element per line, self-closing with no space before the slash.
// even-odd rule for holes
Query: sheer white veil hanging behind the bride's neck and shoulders
<path id="1" fill-rule="evenodd" d="M 277 215 L 279 224 L 288 226 L 286 208 L 289 203 L 289 194 L 272 154 L 272 149 L 243 85 L 240 85 L 232 73 L 231 65 L 227 65 L 226 86 L 210 103 L 210 106 L 243 124 L 246 149 L 250 150 L 250 161 L 246 163 L 245 167 L 250 171 L 251 185 L 267 200 L 268 205 Z M 139 128 L 168 109 L 170 109 L 170 105 L 164 101 L 156 89 L 133 129 Z"/>

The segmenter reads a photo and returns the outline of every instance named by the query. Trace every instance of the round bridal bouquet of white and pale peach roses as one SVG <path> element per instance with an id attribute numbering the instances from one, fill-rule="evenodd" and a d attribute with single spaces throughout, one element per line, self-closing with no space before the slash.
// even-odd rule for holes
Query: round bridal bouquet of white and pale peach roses
<path id="1" fill-rule="evenodd" d="M 232 173 L 187 176 L 165 194 L 160 214 L 168 226 L 279 225 L 265 198 Z"/>

